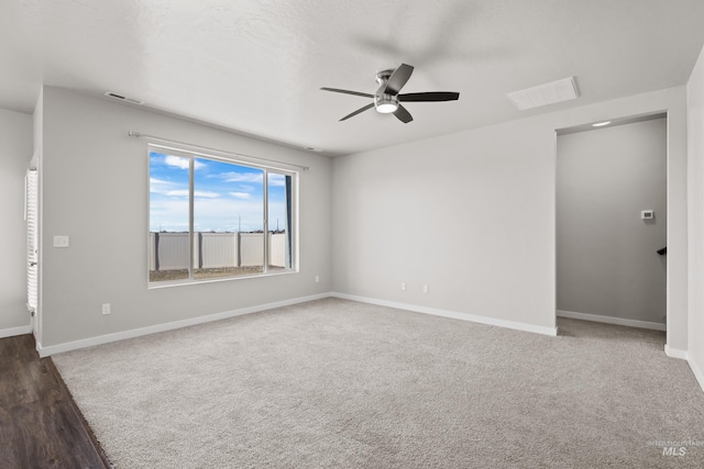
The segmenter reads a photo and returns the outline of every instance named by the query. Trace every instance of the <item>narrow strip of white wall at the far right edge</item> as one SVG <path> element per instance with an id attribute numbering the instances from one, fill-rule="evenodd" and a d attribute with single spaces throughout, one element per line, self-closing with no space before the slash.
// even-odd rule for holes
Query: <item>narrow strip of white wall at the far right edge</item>
<path id="1" fill-rule="evenodd" d="M 690 364 L 704 388 L 704 48 L 686 86 L 690 189 Z"/>

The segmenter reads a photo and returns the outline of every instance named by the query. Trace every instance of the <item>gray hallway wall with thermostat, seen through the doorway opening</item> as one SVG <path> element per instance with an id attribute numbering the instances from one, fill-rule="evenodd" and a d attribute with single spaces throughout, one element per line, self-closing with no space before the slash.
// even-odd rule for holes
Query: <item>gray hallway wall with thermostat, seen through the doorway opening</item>
<path id="1" fill-rule="evenodd" d="M 557 181 L 558 310 L 664 323 L 666 119 L 558 136 Z"/>

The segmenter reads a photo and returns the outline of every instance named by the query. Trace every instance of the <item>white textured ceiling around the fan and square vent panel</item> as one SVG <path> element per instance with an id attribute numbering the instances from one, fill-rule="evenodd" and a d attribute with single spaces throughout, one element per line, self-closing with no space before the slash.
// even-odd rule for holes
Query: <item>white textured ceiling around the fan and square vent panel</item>
<path id="1" fill-rule="evenodd" d="M 32 112 L 42 83 L 342 155 L 686 82 L 702 0 L 2 0 L 0 108 Z M 416 67 L 415 120 L 320 87 L 373 93 Z M 581 97 L 517 111 L 506 93 L 575 76 Z"/>

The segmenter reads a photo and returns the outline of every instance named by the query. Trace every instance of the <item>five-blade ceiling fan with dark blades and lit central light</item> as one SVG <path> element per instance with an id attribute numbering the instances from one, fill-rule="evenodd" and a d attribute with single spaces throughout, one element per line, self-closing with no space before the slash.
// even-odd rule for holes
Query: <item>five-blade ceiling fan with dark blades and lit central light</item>
<path id="1" fill-rule="evenodd" d="M 341 90 L 338 88 L 320 88 L 323 91 L 332 91 L 337 93 L 354 94 L 364 98 L 373 98 L 374 102 L 366 104 L 364 108 L 360 108 L 356 111 L 340 119 L 345 121 L 350 118 L 360 114 L 367 109 L 376 108 L 377 112 L 382 114 L 394 114 L 404 124 L 414 120 L 413 115 L 404 108 L 402 102 L 429 102 L 429 101 L 455 101 L 460 98 L 460 93 L 450 91 L 428 91 L 419 93 L 404 93 L 399 94 L 400 89 L 406 85 L 406 81 L 414 72 L 414 67 L 407 64 L 402 64 L 395 70 L 383 70 L 376 74 L 376 82 L 380 87 L 374 94 L 362 93 L 359 91 Z"/>

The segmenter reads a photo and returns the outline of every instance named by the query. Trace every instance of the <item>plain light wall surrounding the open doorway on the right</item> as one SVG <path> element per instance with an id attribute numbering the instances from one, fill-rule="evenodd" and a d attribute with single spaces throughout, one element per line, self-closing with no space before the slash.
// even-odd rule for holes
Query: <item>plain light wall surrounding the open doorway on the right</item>
<path id="1" fill-rule="evenodd" d="M 668 344 L 686 349 L 685 103 L 678 87 L 337 158 L 334 290 L 554 327 L 556 129 L 667 111 Z"/>

